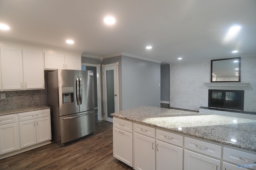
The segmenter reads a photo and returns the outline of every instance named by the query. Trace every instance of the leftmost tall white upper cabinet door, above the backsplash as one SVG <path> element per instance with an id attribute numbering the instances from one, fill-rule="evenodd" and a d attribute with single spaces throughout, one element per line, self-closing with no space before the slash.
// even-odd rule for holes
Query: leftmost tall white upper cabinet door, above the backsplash
<path id="1" fill-rule="evenodd" d="M 22 52 L 1 47 L 2 89 L 23 89 Z"/>

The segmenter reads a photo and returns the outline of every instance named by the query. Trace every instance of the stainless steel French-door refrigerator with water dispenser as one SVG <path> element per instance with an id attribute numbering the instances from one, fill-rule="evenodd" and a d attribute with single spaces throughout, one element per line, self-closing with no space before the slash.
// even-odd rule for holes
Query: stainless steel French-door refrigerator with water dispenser
<path id="1" fill-rule="evenodd" d="M 52 140 L 59 145 L 95 132 L 93 71 L 48 72 Z"/>

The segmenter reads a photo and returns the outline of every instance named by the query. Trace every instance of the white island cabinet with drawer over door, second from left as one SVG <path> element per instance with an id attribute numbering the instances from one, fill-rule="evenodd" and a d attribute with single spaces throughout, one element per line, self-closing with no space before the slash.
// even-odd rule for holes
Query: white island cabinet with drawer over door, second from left
<path id="1" fill-rule="evenodd" d="M 155 128 L 134 123 L 134 169 L 156 169 Z"/>

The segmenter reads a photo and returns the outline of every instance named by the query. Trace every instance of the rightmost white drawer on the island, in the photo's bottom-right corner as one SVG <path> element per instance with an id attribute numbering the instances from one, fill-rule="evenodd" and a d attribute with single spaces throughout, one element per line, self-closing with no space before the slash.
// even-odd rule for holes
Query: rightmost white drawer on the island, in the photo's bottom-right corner
<path id="1" fill-rule="evenodd" d="M 223 160 L 234 164 L 256 164 L 256 154 L 224 147 Z M 252 169 L 255 170 L 256 166 L 253 166 Z"/>

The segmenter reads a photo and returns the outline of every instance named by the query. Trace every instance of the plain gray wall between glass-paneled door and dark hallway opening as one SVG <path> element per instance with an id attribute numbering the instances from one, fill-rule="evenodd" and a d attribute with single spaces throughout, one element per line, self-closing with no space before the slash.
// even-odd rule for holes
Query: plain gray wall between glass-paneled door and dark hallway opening
<path id="1" fill-rule="evenodd" d="M 160 64 L 122 56 L 122 109 L 160 107 Z"/>

